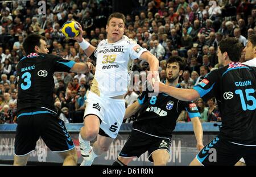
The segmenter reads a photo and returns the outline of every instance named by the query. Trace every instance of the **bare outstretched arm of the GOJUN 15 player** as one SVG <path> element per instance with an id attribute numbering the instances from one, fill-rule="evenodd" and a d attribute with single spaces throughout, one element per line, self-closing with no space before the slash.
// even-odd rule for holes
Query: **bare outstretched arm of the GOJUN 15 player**
<path id="1" fill-rule="evenodd" d="M 176 99 L 182 101 L 193 101 L 197 98 L 200 98 L 199 92 L 194 89 L 185 89 L 185 88 L 176 88 L 172 86 L 167 86 L 162 82 L 154 83 L 155 90 L 159 90 L 159 92 L 164 92 L 167 95 L 170 95 Z"/>

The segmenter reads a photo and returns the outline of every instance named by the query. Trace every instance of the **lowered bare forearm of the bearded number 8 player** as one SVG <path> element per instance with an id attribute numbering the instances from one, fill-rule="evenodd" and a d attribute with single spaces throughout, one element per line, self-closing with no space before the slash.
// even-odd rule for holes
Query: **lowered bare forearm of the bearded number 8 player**
<path id="1" fill-rule="evenodd" d="M 197 150 L 201 150 L 204 148 L 202 124 L 199 120 L 199 117 L 193 117 L 193 118 L 191 118 L 191 121 L 193 124 L 193 130 L 194 130 L 196 141 L 197 141 L 196 148 L 197 148 Z"/>

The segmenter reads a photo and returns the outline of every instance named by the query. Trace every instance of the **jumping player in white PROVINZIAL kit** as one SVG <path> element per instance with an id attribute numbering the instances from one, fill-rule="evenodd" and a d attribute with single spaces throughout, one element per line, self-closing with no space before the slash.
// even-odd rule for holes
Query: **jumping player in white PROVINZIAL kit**
<path id="1" fill-rule="evenodd" d="M 80 25 L 79 25 L 80 26 Z M 133 40 L 124 36 L 125 16 L 118 12 L 108 18 L 107 39 L 102 40 L 95 48 L 80 35 L 74 39 L 87 56 L 96 60 L 96 73 L 92 87 L 86 99 L 84 127 L 79 134 L 81 155 L 84 161 L 81 165 L 92 165 L 93 159 L 108 151 L 110 144 L 117 137 L 125 115 L 125 99 L 130 80 L 129 70 L 136 58 L 145 60 L 150 65 L 150 71 L 157 77 L 158 59 L 143 49 Z M 90 141 L 97 137 L 93 147 Z"/>

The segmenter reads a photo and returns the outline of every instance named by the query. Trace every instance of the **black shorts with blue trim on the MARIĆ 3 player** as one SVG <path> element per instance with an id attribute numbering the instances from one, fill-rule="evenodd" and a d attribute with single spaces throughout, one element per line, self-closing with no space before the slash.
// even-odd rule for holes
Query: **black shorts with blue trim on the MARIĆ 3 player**
<path id="1" fill-rule="evenodd" d="M 75 147 L 64 121 L 48 111 L 27 111 L 18 116 L 14 145 L 15 155 L 26 155 L 35 150 L 36 141 L 43 139 L 53 152 Z"/>

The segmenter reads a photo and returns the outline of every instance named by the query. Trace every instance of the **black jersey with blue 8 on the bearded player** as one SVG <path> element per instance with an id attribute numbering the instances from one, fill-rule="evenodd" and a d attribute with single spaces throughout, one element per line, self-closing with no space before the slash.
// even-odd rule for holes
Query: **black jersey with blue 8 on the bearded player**
<path id="1" fill-rule="evenodd" d="M 180 88 L 180 85 L 177 87 Z M 171 138 L 181 111 L 187 110 L 190 118 L 200 117 L 195 103 L 183 102 L 164 93 L 151 97 L 149 94 L 150 92 L 143 91 L 139 95 L 138 102 L 142 107 L 139 109 L 138 119 L 133 123 L 133 129 Z"/>

